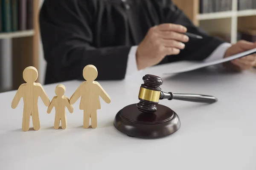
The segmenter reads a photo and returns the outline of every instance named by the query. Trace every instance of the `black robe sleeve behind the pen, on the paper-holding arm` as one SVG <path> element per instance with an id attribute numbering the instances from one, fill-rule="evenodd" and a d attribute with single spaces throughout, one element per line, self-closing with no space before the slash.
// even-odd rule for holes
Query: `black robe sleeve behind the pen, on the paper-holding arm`
<path id="1" fill-rule="evenodd" d="M 169 56 L 169 61 L 180 60 L 204 60 L 224 41 L 207 34 L 202 28 L 195 26 L 186 14 L 172 2 L 172 0 L 156 0 L 157 6 L 161 8 L 161 16 L 163 23 L 175 23 L 183 25 L 187 28 L 187 32 L 198 34 L 203 39 L 189 38 L 189 42 L 185 43 L 185 48 L 180 54 Z"/>

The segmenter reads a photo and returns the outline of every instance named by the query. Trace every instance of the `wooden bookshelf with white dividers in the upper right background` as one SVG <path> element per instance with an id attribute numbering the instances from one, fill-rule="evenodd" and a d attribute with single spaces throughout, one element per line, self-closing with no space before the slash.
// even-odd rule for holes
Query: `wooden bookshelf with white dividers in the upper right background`
<path id="1" fill-rule="evenodd" d="M 200 0 L 173 0 L 195 26 L 200 26 L 209 34 L 226 34 L 231 43 L 238 40 L 238 32 L 248 28 L 256 29 L 256 9 L 238 10 L 238 0 L 232 0 L 231 11 L 200 14 Z"/>

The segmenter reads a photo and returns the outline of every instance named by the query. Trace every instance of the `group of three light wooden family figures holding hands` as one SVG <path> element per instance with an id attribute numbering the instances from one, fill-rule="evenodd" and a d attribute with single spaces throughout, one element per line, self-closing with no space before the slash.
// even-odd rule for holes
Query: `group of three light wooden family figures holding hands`
<path id="1" fill-rule="evenodd" d="M 70 99 L 64 95 L 66 88 L 64 85 L 57 85 L 55 88 L 56 96 L 50 102 L 44 88 L 40 83 L 35 82 L 38 78 L 38 71 L 35 67 L 29 66 L 23 71 L 23 79 L 26 83 L 20 85 L 14 99 L 12 100 L 12 108 L 15 109 L 23 98 L 23 121 L 22 130 L 29 130 L 30 116 L 32 116 L 34 130 L 40 129 L 40 120 L 38 113 L 38 97 L 40 96 L 44 105 L 48 107 L 47 113 L 55 107 L 54 128 L 58 129 L 61 121 L 61 128 L 67 128 L 67 118 L 65 109 L 73 113 L 73 104 L 81 97 L 79 108 L 84 111 L 83 127 L 88 128 L 91 119 L 92 128 L 97 127 L 97 109 L 100 109 L 99 96 L 106 103 L 110 103 L 111 99 L 104 91 L 99 82 L 94 81 L 98 76 L 97 68 L 94 65 L 87 65 L 83 69 L 83 77 L 86 81 L 82 82 L 79 88 L 74 92 Z"/>

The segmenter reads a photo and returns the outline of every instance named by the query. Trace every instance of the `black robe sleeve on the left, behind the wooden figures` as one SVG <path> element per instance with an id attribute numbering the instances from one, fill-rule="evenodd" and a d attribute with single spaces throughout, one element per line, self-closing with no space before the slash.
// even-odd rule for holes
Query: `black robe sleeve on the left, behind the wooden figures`
<path id="1" fill-rule="evenodd" d="M 45 0 L 40 11 L 41 40 L 47 61 L 45 84 L 83 79 L 88 64 L 97 79 L 125 77 L 130 46 L 96 48 L 93 42 L 95 1 Z M 84 80 L 84 79 L 83 79 Z"/>

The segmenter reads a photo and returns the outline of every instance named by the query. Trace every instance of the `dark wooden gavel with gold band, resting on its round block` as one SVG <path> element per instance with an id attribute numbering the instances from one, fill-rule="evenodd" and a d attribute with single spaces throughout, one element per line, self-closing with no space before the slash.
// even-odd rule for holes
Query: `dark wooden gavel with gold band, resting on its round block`
<path id="1" fill-rule="evenodd" d="M 162 99 L 176 99 L 189 102 L 214 103 L 218 99 L 214 96 L 207 96 L 202 94 L 174 94 L 172 92 L 166 93 L 161 91 L 160 85 L 163 80 L 151 74 L 146 74 L 143 77 L 144 84 L 140 86 L 139 100 L 137 108 L 142 112 L 154 113 L 157 111 L 157 104 Z"/>

